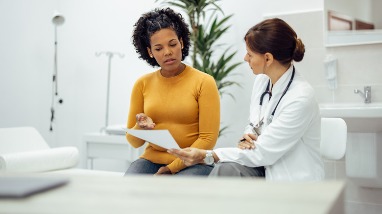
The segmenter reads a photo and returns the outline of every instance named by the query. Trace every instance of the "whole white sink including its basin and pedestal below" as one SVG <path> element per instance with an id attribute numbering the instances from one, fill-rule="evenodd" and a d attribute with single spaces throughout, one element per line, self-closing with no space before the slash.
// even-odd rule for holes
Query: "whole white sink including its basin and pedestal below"
<path id="1" fill-rule="evenodd" d="M 360 187 L 382 188 L 382 103 L 322 103 L 320 110 L 348 127 L 346 176 Z"/>

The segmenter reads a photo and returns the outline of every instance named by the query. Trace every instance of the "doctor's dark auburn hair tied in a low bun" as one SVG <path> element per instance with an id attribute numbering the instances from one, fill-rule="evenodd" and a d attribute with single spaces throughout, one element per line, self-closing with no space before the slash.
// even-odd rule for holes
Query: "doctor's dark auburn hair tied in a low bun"
<path id="1" fill-rule="evenodd" d="M 244 40 L 255 53 L 271 53 L 283 65 L 302 61 L 305 46 L 287 22 L 274 18 L 251 27 Z"/>

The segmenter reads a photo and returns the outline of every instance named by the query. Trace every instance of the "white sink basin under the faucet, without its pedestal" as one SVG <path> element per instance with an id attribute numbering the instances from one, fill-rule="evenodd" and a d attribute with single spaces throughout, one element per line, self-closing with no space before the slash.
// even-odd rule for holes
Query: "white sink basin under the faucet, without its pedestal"
<path id="1" fill-rule="evenodd" d="M 340 117 L 348 132 L 382 131 L 382 103 L 322 103 L 322 117 Z"/>

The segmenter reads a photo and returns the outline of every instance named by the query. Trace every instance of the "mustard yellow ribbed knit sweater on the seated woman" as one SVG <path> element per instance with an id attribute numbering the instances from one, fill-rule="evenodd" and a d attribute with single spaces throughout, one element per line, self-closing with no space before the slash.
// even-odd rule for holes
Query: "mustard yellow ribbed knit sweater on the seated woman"
<path id="1" fill-rule="evenodd" d="M 214 148 L 220 125 L 220 99 L 212 76 L 186 65 L 179 75 L 166 78 L 161 70 L 143 75 L 134 84 L 127 128 L 142 129 L 135 116 L 144 113 L 156 124 L 154 129 L 168 129 L 180 148 Z M 144 140 L 126 133 L 134 148 Z M 167 150 L 148 143 L 140 158 L 166 164 L 172 174 L 187 166 Z"/>

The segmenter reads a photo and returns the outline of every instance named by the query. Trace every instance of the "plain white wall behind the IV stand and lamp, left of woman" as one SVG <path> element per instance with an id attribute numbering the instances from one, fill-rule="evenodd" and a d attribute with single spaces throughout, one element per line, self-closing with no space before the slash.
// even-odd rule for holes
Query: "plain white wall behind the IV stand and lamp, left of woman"
<path id="1" fill-rule="evenodd" d="M 132 84 L 153 70 L 138 60 L 131 44 L 133 24 L 159 3 L 121 0 L 0 1 L 0 127 L 33 126 L 51 147 L 81 149 L 82 133 L 105 125 L 106 55 L 111 66 L 109 124 L 125 124 Z M 57 27 L 58 99 L 53 131 L 49 131 L 54 55 L 53 10 L 64 14 Z M 55 101 L 57 101 L 56 99 Z"/>

